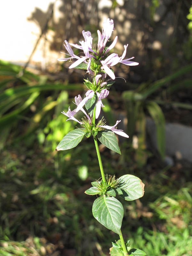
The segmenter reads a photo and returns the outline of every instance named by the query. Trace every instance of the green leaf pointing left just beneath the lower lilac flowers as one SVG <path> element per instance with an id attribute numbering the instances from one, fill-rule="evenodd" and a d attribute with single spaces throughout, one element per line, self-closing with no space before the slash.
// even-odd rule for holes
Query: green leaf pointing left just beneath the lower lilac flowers
<path id="1" fill-rule="evenodd" d="M 60 141 L 58 144 L 56 150 L 67 150 L 70 148 L 75 148 L 79 142 L 83 140 L 83 137 L 85 135 L 84 129 L 75 129 L 71 132 L 68 132 L 65 137 Z"/>

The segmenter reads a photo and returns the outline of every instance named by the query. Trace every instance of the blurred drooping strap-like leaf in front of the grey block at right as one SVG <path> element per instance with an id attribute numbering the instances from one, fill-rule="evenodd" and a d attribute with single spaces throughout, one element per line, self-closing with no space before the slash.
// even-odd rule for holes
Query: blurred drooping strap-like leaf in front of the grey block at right
<path id="1" fill-rule="evenodd" d="M 158 151 L 164 159 L 165 156 L 165 118 L 159 105 L 154 101 L 149 101 L 146 105 L 149 114 L 156 124 L 156 139 Z"/>

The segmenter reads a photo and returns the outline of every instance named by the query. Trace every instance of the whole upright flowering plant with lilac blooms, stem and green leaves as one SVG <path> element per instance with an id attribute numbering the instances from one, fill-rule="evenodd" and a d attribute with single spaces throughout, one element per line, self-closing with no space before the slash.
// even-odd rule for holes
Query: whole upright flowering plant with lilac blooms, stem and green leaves
<path id="1" fill-rule="evenodd" d="M 107 19 L 107 21 L 103 23 L 102 34 L 99 30 L 97 31 L 97 48 L 92 46 L 92 36 L 90 31 L 82 32 L 84 41 L 80 41 L 80 45 L 69 44 L 65 40 L 64 46 L 68 51 L 67 55 L 70 57 L 59 59 L 59 61 L 77 59 L 69 66 L 69 68 L 86 69 L 87 73 L 92 75 L 92 79 L 91 81 L 89 81 L 89 79 L 84 79 L 84 84 L 87 86 L 88 91 L 85 93 L 84 99 L 82 99 L 80 95 L 75 97 L 76 108 L 71 111 L 69 107 L 67 113 L 62 112 L 62 114 L 68 116 L 67 120 L 71 119 L 78 122 L 81 125 L 81 128 L 69 132 L 60 141 L 56 150 L 59 151 L 74 148 L 84 137 L 89 138 L 90 136 L 93 136 L 102 177 L 100 181 L 92 182 L 92 187 L 85 191 L 88 195 L 97 195 L 97 199 L 92 206 L 93 216 L 103 226 L 114 231 L 120 237 L 120 240 L 116 241 L 116 243 L 112 243 L 113 247 L 110 248 L 110 254 L 112 256 L 144 256 L 146 255 L 145 252 L 140 249 L 131 248 L 129 241 L 126 243 L 124 242 L 121 232 L 124 209 L 123 205 L 116 199 L 116 195 L 127 201 L 142 197 L 144 194 L 144 184 L 138 177 L 130 174 L 125 174 L 118 179 L 116 179 L 115 176 L 105 175 L 97 142 L 98 139 L 107 148 L 121 154 L 115 133 L 129 138 L 123 130 L 117 129 L 116 126 L 120 120 L 116 121 L 115 125 L 108 126 L 105 124 L 105 120 L 102 117 L 96 124 L 96 119 L 99 118 L 100 110 L 104 107 L 102 99 L 108 96 L 108 90 L 114 83 L 108 78 L 109 76 L 113 80 L 115 79 L 115 74 L 111 67 L 119 62 L 129 66 L 139 64 L 138 62 L 129 61 L 134 57 L 124 59 L 128 44 L 124 45 L 124 52 L 121 57 L 116 53 L 109 53 L 118 39 L 116 36 L 113 43 L 108 47 L 106 46 L 113 30 L 113 20 Z M 83 50 L 84 55 L 80 57 L 75 55 L 70 45 Z M 84 117 L 81 120 L 77 120 L 74 117 L 78 111 L 84 113 Z"/>

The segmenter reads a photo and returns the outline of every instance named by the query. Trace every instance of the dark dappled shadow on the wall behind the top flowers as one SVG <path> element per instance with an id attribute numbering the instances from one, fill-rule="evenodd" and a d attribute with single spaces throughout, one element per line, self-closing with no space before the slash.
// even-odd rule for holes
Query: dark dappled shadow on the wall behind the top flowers
<path id="1" fill-rule="evenodd" d="M 188 56 L 184 44 L 188 41 L 188 20 L 190 1 L 157 0 L 59 0 L 50 3 L 47 12 L 35 8 L 28 18 L 41 29 L 44 28 L 53 9 L 52 19 L 47 29 L 54 31 L 50 50 L 63 51 L 64 40 L 78 43 L 82 30 L 90 30 L 97 37 L 97 28 L 106 18 L 114 20 L 118 35 L 116 52 L 121 55 L 124 44 L 129 43 L 128 56 L 135 56 L 140 62 L 137 68 L 122 65 L 118 68 L 127 74 L 132 82 L 140 83 L 149 79 L 155 80 L 187 64 Z M 48 39 L 47 39 L 48 40 Z M 97 44 L 96 41 L 93 45 Z M 135 73 L 137 72 L 137 73 Z"/>

